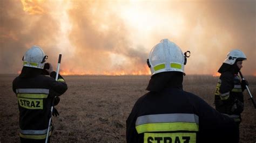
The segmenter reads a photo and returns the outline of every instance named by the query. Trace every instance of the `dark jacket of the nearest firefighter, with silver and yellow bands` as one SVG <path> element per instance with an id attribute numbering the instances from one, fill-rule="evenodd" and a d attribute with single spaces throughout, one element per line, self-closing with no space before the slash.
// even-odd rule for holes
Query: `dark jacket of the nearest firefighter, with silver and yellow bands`
<path id="1" fill-rule="evenodd" d="M 238 142 L 238 127 L 198 96 L 169 86 L 138 99 L 126 120 L 126 141 Z"/>

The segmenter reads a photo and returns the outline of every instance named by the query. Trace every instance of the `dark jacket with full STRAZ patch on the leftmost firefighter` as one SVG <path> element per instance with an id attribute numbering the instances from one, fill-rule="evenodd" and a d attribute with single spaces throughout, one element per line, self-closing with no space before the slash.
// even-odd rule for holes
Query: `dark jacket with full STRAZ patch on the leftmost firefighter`
<path id="1" fill-rule="evenodd" d="M 18 98 L 21 138 L 46 138 L 51 102 L 55 96 L 62 95 L 68 89 L 62 76 L 58 75 L 58 81 L 55 81 L 55 77 L 56 72 L 52 71 L 50 77 L 41 74 L 18 76 L 12 82 L 12 90 Z"/>

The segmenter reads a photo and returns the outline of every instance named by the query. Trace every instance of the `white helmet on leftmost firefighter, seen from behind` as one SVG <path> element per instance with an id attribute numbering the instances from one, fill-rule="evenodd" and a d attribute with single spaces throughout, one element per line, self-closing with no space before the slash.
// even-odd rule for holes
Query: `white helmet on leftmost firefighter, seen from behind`
<path id="1" fill-rule="evenodd" d="M 39 46 L 32 46 L 23 56 L 23 66 L 43 69 L 47 58 L 43 49 Z"/>

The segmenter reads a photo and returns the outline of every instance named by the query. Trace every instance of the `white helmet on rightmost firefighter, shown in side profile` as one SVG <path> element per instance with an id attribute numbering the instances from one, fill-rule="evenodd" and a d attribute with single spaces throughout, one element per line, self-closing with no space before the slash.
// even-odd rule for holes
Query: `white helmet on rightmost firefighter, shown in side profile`
<path id="1" fill-rule="evenodd" d="M 236 60 L 246 60 L 245 54 L 240 51 L 239 49 L 233 49 L 232 51 L 227 53 L 227 58 L 225 59 L 224 63 L 228 65 L 233 65 Z"/>

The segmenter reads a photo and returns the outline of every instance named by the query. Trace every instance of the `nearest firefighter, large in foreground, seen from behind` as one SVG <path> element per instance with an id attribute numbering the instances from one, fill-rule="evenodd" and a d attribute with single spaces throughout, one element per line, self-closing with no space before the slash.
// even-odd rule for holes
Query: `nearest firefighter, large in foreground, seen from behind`
<path id="1" fill-rule="evenodd" d="M 233 119 L 183 90 L 187 54 L 168 39 L 152 48 L 149 92 L 126 120 L 127 142 L 238 142 Z"/>

